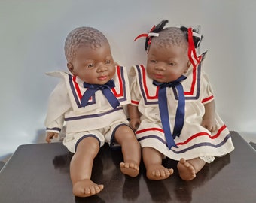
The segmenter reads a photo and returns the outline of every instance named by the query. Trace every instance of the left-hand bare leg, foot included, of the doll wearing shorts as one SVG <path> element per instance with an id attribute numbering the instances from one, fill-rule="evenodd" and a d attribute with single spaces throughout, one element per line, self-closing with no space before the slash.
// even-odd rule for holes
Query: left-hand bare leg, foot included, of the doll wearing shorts
<path id="1" fill-rule="evenodd" d="M 93 159 L 99 152 L 99 141 L 93 137 L 81 140 L 70 162 L 70 177 L 73 184 L 73 194 L 79 197 L 96 195 L 103 189 L 90 180 Z"/>

